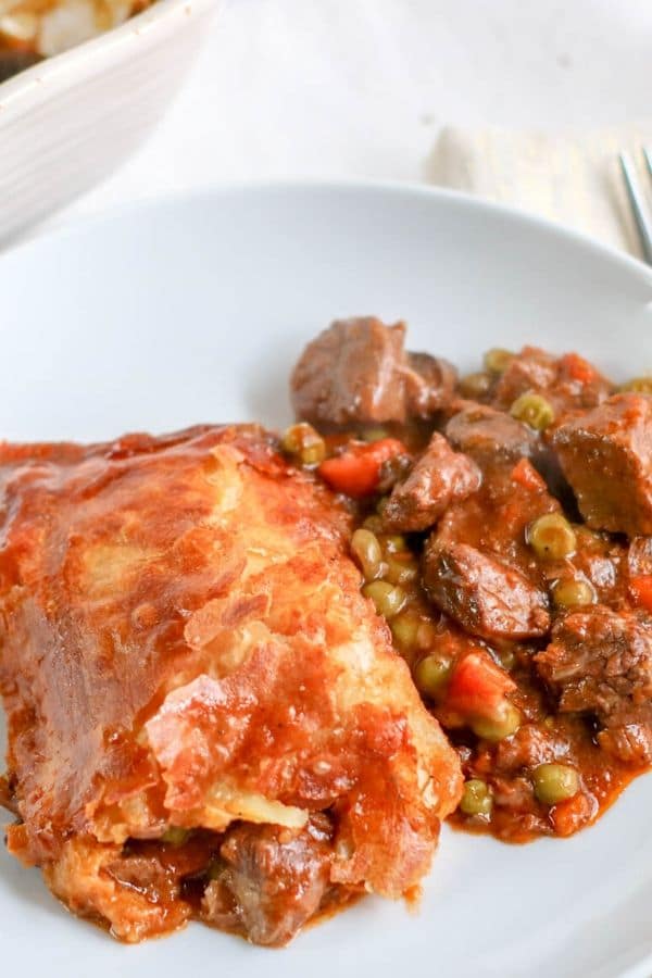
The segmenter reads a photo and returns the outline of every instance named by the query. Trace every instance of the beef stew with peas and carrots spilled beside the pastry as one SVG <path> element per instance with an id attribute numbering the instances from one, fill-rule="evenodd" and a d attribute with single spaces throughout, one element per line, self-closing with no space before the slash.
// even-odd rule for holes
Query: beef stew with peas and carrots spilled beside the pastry
<path id="1" fill-rule="evenodd" d="M 364 318 L 308 346 L 290 454 L 354 513 L 363 593 L 462 762 L 452 823 L 572 835 L 652 762 L 652 384 L 490 350 L 454 386 L 421 369 L 415 408 L 403 340 Z"/>

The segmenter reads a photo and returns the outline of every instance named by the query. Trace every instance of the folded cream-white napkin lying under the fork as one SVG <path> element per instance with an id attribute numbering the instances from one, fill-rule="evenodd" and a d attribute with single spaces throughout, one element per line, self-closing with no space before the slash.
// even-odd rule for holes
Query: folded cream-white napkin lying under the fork
<path id="1" fill-rule="evenodd" d="M 643 187 L 641 146 L 652 123 L 584 134 L 444 127 L 426 164 L 428 180 L 513 204 L 641 256 L 617 154 L 631 153 Z M 649 193 L 652 209 L 652 193 Z"/>

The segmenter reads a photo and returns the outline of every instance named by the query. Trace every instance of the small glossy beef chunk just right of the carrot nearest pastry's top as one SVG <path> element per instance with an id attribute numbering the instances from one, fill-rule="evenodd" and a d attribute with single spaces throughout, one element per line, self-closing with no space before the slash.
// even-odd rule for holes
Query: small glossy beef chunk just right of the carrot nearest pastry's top
<path id="1" fill-rule="evenodd" d="M 437 432 L 404 482 L 394 487 L 383 519 L 388 529 L 410 532 L 432 526 L 454 499 L 465 499 L 482 480 L 466 455 Z"/>

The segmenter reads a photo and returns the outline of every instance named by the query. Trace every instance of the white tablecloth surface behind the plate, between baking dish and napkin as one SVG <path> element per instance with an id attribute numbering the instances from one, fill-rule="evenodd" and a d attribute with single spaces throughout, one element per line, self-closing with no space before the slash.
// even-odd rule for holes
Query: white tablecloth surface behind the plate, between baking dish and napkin
<path id="1" fill-rule="evenodd" d="M 50 224 L 223 180 L 418 180 L 443 124 L 649 117 L 651 51 L 649 0 L 222 0 L 155 135 Z"/>

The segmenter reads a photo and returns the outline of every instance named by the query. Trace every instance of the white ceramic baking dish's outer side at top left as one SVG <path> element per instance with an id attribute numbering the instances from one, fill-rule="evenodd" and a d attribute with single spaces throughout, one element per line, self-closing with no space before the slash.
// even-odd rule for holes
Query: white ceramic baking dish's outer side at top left
<path id="1" fill-rule="evenodd" d="M 218 0 L 158 0 L 0 84 L 0 242 L 108 176 L 152 129 Z"/>

